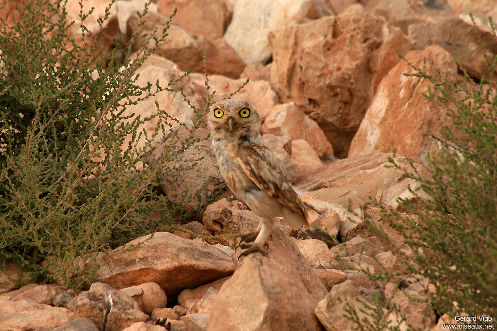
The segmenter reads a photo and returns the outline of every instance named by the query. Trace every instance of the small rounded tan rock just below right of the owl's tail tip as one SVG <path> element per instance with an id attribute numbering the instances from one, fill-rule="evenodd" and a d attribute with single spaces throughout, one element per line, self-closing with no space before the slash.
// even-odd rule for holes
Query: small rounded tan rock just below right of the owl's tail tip
<path id="1" fill-rule="evenodd" d="M 328 248 L 337 243 L 340 233 L 340 216 L 327 210 L 311 223 L 311 229 L 300 231 L 297 239 L 318 239 L 324 241 Z"/>

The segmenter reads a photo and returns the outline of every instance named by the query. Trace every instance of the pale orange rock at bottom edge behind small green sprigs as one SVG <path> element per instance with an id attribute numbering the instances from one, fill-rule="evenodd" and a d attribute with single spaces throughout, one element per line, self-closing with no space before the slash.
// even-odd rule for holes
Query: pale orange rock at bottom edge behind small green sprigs
<path id="1" fill-rule="evenodd" d="M 353 309 L 359 320 L 367 318 L 363 305 L 357 301 L 361 299 L 369 304 L 374 304 L 371 297 L 374 291 L 357 286 L 354 281 L 347 280 L 333 286 L 330 293 L 321 300 L 316 307 L 316 316 L 327 331 L 353 330 L 356 325 L 346 316 L 351 316 L 347 310 Z M 384 313 L 387 310 L 384 309 Z"/>

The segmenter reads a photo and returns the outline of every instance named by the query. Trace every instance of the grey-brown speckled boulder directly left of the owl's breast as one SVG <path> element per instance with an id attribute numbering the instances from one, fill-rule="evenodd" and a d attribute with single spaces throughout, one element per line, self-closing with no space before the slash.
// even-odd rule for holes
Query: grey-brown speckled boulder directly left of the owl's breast
<path id="1" fill-rule="evenodd" d="M 171 157 L 168 168 L 159 176 L 159 184 L 167 199 L 181 201 L 184 210 L 191 212 L 192 217 L 201 215 L 207 202 L 224 186 L 212 142 L 203 139 L 208 134 L 204 129 L 197 129 L 193 136 L 202 140 Z M 178 137 L 184 141 L 188 135 L 189 132 L 183 130 Z M 199 161 L 193 163 L 191 160 Z M 186 201 L 183 199 L 185 195 Z"/>

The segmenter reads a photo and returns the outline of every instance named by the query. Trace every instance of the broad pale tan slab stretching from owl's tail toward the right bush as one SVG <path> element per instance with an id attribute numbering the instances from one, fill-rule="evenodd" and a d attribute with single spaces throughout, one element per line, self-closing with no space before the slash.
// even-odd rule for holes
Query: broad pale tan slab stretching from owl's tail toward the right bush
<path id="1" fill-rule="evenodd" d="M 402 169 L 386 168 L 386 165 L 391 165 L 386 162 L 371 169 L 356 170 L 337 178 L 326 188 L 305 193 L 301 199 L 318 213 L 327 210 L 336 212 L 340 216 L 340 236 L 344 237 L 348 231 L 363 222 L 359 206 L 370 201 L 370 197 L 393 207 L 398 205 L 399 197 L 403 199 L 413 197 L 409 188 L 415 190 L 419 183 L 404 177 L 404 170 L 413 172 L 411 168 L 413 161 L 397 157 L 395 162 Z M 420 175 L 429 176 L 427 169 L 413 164 Z M 352 211 L 349 211 L 349 206 Z"/>

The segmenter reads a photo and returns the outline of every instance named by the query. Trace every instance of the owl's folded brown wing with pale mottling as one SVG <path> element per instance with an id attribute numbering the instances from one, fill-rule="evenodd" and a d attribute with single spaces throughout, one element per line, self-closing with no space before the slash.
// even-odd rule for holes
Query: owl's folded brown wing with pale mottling
<path id="1" fill-rule="evenodd" d="M 264 145 L 241 144 L 236 148 L 235 157 L 245 174 L 260 190 L 264 190 L 288 209 L 304 216 L 309 224 L 304 202 L 290 186 L 282 162 L 269 149 Z"/>

